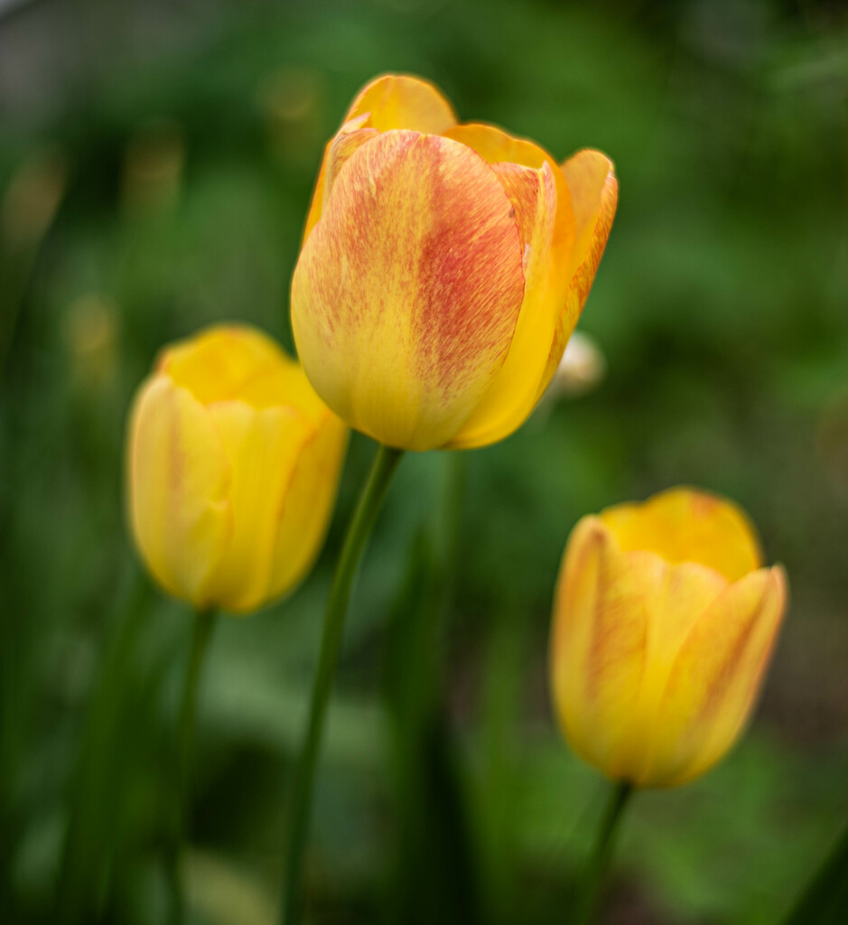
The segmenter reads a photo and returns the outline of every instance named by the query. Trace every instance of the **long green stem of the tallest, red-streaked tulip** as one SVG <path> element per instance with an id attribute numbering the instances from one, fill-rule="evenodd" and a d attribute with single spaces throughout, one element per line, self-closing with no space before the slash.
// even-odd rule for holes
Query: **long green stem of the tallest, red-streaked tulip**
<path id="1" fill-rule="evenodd" d="M 309 725 L 295 767 L 289 796 L 289 812 L 283 855 L 283 894 L 281 921 L 295 925 L 301 915 L 303 850 L 309 834 L 313 782 L 318 752 L 326 720 L 326 709 L 336 672 L 338 649 L 350 602 L 350 591 L 362 560 L 365 545 L 374 527 L 377 513 L 386 497 L 388 483 L 403 455 L 402 450 L 380 446 L 365 482 L 356 510 L 350 518 L 348 532 L 330 586 L 326 602 L 324 635 L 313 683 Z"/>

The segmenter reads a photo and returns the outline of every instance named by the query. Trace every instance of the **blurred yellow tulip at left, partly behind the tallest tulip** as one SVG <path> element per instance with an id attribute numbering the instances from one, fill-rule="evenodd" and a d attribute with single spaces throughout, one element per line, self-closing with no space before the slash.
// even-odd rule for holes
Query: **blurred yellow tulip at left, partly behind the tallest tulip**
<path id="1" fill-rule="evenodd" d="M 253 611 L 309 570 L 348 430 L 274 341 L 220 326 L 167 347 L 128 438 L 132 533 L 171 594 Z"/>

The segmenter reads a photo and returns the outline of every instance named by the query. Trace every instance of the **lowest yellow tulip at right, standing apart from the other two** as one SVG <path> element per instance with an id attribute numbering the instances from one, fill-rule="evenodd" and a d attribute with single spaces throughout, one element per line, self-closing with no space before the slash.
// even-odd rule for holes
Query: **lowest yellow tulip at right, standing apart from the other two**
<path id="1" fill-rule="evenodd" d="M 673 488 L 574 527 L 551 682 L 574 750 L 610 779 L 686 783 L 753 709 L 786 605 L 780 566 L 730 501 Z"/>

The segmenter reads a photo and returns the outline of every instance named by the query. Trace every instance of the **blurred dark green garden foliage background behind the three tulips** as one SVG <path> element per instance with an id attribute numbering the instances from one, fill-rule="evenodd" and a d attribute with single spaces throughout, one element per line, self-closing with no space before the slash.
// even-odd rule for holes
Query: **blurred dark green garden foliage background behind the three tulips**
<path id="1" fill-rule="evenodd" d="M 848 819 L 848 19 L 816 0 L 0 2 L 0 920 L 165 922 L 190 614 L 122 499 L 129 398 L 220 319 L 291 345 L 320 152 L 376 73 L 616 161 L 580 327 L 608 374 L 504 443 L 409 455 L 347 625 L 308 857 L 316 923 L 552 923 L 606 784 L 559 739 L 547 630 L 586 512 L 739 500 L 792 607 L 756 722 L 634 802 L 607 925 L 772 923 Z M 216 630 L 192 921 L 275 920 L 350 449 L 313 575 Z"/>

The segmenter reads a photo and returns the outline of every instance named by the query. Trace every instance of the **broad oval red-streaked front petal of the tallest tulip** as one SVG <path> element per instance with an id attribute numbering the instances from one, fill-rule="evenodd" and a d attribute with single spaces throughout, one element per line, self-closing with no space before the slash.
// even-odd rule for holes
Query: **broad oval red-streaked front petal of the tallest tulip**
<path id="1" fill-rule="evenodd" d="M 292 327 L 339 417 L 427 450 L 498 373 L 523 291 L 518 228 L 492 169 L 458 142 L 389 131 L 338 174 L 295 269 Z"/>

